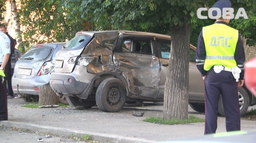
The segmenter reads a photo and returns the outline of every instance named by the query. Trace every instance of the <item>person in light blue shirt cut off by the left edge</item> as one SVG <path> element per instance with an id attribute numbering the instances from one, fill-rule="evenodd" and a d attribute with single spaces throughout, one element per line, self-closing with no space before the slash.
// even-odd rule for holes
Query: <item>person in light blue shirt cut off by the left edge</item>
<path id="1" fill-rule="evenodd" d="M 4 84 L 4 70 L 10 56 L 10 39 L 0 31 L 0 121 L 8 120 L 6 84 Z"/>

